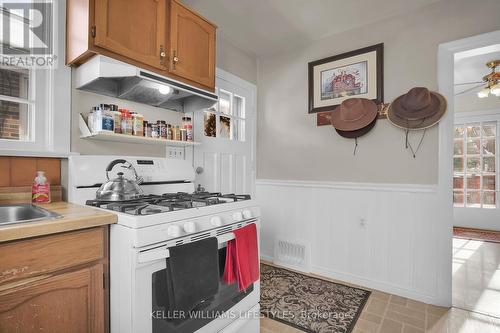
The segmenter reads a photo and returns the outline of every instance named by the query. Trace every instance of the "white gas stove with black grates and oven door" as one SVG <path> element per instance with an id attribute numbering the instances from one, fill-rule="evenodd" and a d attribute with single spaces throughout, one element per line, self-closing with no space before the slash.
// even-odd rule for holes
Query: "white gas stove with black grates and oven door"
<path id="1" fill-rule="evenodd" d="M 133 165 L 144 179 L 145 195 L 122 202 L 95 200 L 106 181 L 106 166 L 116 159 Z M 163 280 L 159 277 L 165 274 L 169 248 L 217 237 L 219 262 L 223 263 L 226 242 L 234 238 L 232 231 L 252 223 L 259 227 L 260 210 L 250 196 L 195 191 L 194 180 L 194 169 L 185 160 L 70 158 L 69 201 L 118 215 L 118 223 L 110 228 L 111 332 L 259 331 L 258 281 L 245 292 L 221 283 L 220 295 L 210 306 L 214 313 L 227 315 L 180 320 L 162 312 Z"/>

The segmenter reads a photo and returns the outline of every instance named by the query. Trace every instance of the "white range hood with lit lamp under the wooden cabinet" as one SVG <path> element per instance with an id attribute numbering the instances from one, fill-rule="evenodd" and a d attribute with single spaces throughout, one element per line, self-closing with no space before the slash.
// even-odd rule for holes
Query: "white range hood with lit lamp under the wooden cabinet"
<path id="1" fill-rule="evenodd" d="M 156 73 L 102 55 L 75 69 L 76 89 L 184 112 L 213 106 L 218 97 Z"/>

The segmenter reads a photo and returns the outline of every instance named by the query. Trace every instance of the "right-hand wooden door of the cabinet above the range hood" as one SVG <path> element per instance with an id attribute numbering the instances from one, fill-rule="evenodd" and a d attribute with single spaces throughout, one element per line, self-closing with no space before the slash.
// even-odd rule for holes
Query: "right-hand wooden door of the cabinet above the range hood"
<path id="1" fill-rule="evenodd" d="M 215 87 L 215 27 L 175 0 L 170 7 L 170 72 Z"/>

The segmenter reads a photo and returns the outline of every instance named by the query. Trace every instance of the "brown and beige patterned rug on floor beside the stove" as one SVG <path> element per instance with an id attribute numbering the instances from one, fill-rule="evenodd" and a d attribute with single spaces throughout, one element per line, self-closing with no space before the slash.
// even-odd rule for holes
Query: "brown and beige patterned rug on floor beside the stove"
<path id="1" fill-rule="evenodd" d="M 261 264 L 261 313 L 311 333 L 349 333 L 370 291 Z"/>

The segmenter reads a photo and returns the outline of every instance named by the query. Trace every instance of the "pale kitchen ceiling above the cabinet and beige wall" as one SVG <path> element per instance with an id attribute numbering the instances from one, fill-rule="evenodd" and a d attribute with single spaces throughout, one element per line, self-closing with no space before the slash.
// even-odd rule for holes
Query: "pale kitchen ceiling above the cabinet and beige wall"
<path id="1" fill-rule="evenodd" d="M 184 0 L 257 56 L 300 46 L 439 0 Z"/>

